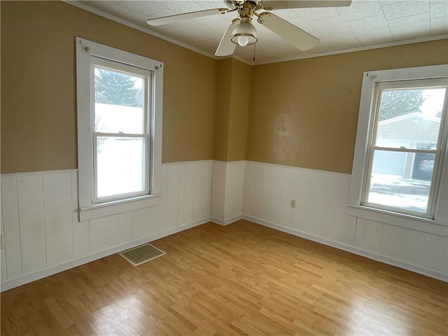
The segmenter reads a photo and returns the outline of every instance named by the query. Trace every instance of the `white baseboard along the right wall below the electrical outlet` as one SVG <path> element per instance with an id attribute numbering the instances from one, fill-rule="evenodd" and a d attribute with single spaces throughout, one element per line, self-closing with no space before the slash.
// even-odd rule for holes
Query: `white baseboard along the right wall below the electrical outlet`
<path id="1" fill-rule="evenodd" d="M 242 218 L 246 219 L 247 221 L 251 221 L 253 223 L 257 223 L 257 224 L 266 226 L 268 228 L 272 228 L 274 230 L 279 230 L 281 232 L 289 233 L 290 235 L 295 235 L 297 237 L 302 237 L 304 239 L 316 241 L 316 243 L 319 243 L 319 244 L 335 247 L 335 248 L 338 248 L 339 250 L 343 250 L 343 251 L 346 251 L 349 253 L 360 255 L 365 258 L 383 262 L 388 265 L 400 267 L 402 269 L 407 269 L 408 271 L 411 271 L 411 272 L 419 273 L 419 274 L 422 274 L 425 276 L 430 276 L 431 278 L 434 278 L 434 279 L 448 282 L 448 274 L 444 274 L 442 272 L 437 272 L 433 269 L 427 269 L 425 267 L 417 266 L 417 265 L 411 264 L 409 262 L 404 262 L 401 260 L 393 259 L 386 255 L 381 255 L 378 253 L 365 251 L 365 250 L 363 250 L 361 248 L 357 248 L 355 246 L 350 246 L 350 245 L 339 243 L 338 241 L 332 241 L 330 239 L 325 239 L 325 238 L 318 237 L 315 235 L 310 235 L 309 233 L 302 232 L 300 230 L 295 230 L 293 228 L 288 228 L 286 226 L 278 225 L 278 224 L 275 224 L 275 223 L 272 223 L 269 221 L 264 221 L 259 218 L 246 216 L 246 215 L 243 215 Z"/>

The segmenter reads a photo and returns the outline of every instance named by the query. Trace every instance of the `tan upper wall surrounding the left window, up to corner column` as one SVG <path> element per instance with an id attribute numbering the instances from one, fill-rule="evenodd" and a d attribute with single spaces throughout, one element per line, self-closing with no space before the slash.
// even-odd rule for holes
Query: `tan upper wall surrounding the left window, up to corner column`
<path id="1" fill-rule="evenodd" d="M 1 1 L 1 172 L 77 167 L 75 36 L 165 63 L 163 162 L 213 156 L 216 60 L 60 1 Z"/>

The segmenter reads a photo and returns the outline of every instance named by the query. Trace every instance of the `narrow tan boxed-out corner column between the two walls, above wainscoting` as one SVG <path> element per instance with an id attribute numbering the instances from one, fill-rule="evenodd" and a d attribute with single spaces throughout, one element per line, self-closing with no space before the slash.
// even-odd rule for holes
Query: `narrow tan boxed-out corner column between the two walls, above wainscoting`
<path id="1" fill-rule="evenodd" d="M 237 59 L 218 61 L 214 160 L 246 159 L 251 66 Z"/>

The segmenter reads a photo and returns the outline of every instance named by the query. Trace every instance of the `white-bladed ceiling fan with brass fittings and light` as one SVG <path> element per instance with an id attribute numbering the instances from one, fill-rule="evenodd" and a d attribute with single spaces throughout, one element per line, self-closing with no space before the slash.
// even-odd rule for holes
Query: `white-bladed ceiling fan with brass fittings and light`
<path id="1" fill-rule="evenodd" d="M 270 11 L 287 8 L 346 7 L 350 6 L 351 0 L 224 0 L 224 3 L 227 8 L 169 15 L 163 18 L 149 19 L 146 22 L 151 26 L 160 26 L 207 15 L 225 15 L 237 12 L 238 17 L 230 22 L 215 52 L 216 56 L 227 56 L 233 54 L 237 45 L 244 47 L 258 41 L 257 31 L 252 25 L 252 18 L 255 15 L 258 23 L 274 31 L 275 34 L 284 38 L 295 48 L 309 50 L 319 43 L 318 38 L 299 27 L 295 27 L 292 23 L 283 20 Z M 258 13 L 257 10 L 267 11 Z"/>

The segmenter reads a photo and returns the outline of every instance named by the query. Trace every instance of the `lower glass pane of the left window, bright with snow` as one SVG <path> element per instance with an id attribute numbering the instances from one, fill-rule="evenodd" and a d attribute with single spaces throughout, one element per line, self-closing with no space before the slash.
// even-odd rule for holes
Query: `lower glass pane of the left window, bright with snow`
<path id="1" fill-rule="evenodd" d="M 97 197 L 145 190 L 145 139 L 97 137 Z"/>

